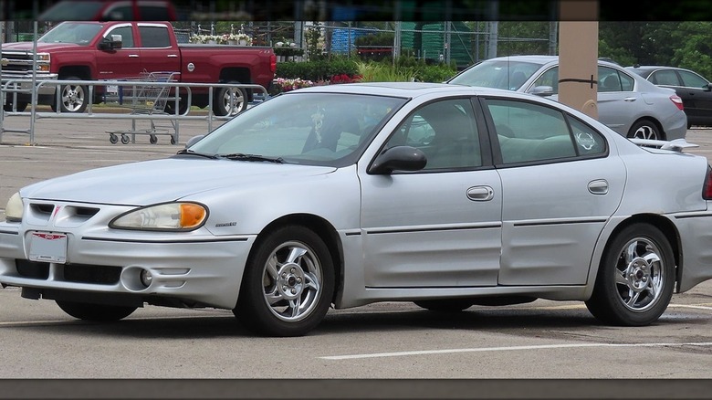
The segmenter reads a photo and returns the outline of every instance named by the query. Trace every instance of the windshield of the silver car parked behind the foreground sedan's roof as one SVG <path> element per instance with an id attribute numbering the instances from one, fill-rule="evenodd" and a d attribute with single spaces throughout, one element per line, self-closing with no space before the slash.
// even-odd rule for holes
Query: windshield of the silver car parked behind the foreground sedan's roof
<path id="1" fill-rule="evenodd" d="M 530 62 L 486 60 L 466 69 L 447 83 L 518 90 L 539 68 L 540 64 Z"/>

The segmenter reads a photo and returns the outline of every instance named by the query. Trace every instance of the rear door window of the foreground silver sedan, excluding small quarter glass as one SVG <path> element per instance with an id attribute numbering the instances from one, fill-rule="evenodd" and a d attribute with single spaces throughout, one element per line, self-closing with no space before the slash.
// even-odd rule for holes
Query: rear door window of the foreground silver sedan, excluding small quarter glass
<path id="1" fill-rule="evenodd" d="M 487 100 L 503 163 L 576 156 L 566 117 L 549 107 L 515 100 Z"/>

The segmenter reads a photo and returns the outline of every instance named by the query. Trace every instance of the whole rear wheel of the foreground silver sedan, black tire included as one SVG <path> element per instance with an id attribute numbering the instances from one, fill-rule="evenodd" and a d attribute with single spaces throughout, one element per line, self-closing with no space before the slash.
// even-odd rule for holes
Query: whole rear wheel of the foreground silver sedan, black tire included
<path id="1" fill-rule="evenodd" d="M 670 242 L 658 228 L 634 224 L 606 246 L 586 307 L 604 323 L 649 325 L 665 312 L 674 289 Z"/>

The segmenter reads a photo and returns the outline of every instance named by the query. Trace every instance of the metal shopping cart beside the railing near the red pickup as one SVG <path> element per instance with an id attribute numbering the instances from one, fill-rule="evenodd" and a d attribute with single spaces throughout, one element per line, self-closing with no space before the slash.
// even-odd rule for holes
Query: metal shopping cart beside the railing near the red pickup
<path id="1" fill-rule="evenodd" d="M 135 79 L 121 79 L 126 81 L 126 85 L 120 85 L 117 88 L 119 104 L 131 109 L 131 115 L 169 115 L 165 111 L 166 103 L 171 98 L 171 87 L 166 85 L 152 85 L 153 82 L 174 82 L 180 72 L 171 71 L 143 71 L 141 75 Z M 109 142 L 119 142 L 128 144 L 137 134 L 149 135 L 149 142 L 155 144 L 158 142 L 158 135 L 170 135 L 171 144 L 178 142 L 175 120 L 170 121 L 170 126 L 158 126 L 156 121 L 151 118 L 148 120 L 149 127 L 147 129 L 137 129 L 136 121 L 131 120 L 131 130 L 125 131 L 107 131 L 109 133 Z"/>

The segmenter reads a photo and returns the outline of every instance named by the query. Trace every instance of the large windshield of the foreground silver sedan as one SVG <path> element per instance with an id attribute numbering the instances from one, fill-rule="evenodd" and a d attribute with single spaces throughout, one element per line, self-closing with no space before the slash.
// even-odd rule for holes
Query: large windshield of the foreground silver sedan
<path id="1" fill-rule="evenodd" d="M 236 161 L 344 166 L 407 99 L 288 92 L 225 122 L 187 153 Z M 186 153 L 186 152 L 183 152 Z"/>

